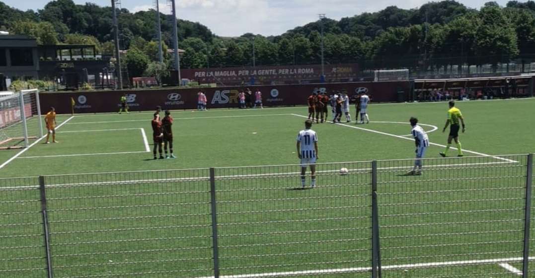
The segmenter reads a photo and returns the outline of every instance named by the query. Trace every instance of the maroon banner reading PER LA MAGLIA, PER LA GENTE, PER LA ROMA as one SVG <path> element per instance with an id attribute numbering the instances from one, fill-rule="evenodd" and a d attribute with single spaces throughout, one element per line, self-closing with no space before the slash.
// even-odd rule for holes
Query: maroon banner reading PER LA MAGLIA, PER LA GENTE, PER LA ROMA
<path id="1" fill-rule="evenodd" d="M 327 82 L 347 80 L 356 81 L 357 64 L 325 65 L 325 80 Z M 249 84 L 254 79 L 255 84 L 299 83 L 296 81 L 319 81 L 322 75 L 321 65 L 291 65 L 291 66 L 256 66 L 256 67 L 226 67 L 226 68 L 192 68 L 181 69 L 181 78 L 200 83 L 218 84 Z"/>

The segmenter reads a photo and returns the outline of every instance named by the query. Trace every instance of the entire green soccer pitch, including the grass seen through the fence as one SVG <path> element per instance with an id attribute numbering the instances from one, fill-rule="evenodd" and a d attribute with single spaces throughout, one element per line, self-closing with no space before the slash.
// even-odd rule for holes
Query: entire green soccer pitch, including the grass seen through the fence
<path id="1" fill-rule="evenodd" d="M 162 160 L 152 160 L 152 112 L 61 115 L 60 143 L 0 152 L 0 177 L 52 175 L 46 183 L 55 277 L 212 276 L 216 196 L 208 167 L 216 167 L 221 275 L 369 277 L 370 161 L 381 160 L 384 277 L 518 277 L 527 161 L 502 155 L 535 152 L 535 99 L 457 107 L 467 123 L 464 154 L 475 157 L 438 156 L 446 102 L 373 104 L 367 125 L 315 124 L 318 162 L 325 164 L 312 190 L 297 190 L 294 165 L 306 107 L 172 111 L 178 158 Z M 403 175 L 414 158 L 411 116 L 433 143 L 422 176 Z M 350 173 L 339 175 L 341 167 Z M 152 170 L 158 172 L 143 172 Z M 107 172 L 116 173 L 77 175 Z M 0 273 L 42 277 L 36 179 L 0 182 Z"/>

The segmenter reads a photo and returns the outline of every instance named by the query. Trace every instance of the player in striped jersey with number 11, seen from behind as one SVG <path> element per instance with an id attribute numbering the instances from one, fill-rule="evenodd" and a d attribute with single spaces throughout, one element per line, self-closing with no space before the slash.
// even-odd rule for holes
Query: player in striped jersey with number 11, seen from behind
<path id="1" fill-rule="evenodd" d="M 297 134 L 297 156 L 301 159 L 301 186 L 305 186 L 305 174 L 310 165 L 310 187 L 316 186 L 316 160 L 318 159 L 318 135 L 312 129 L 312 121 L 304 122 L 304 129 Z"/>

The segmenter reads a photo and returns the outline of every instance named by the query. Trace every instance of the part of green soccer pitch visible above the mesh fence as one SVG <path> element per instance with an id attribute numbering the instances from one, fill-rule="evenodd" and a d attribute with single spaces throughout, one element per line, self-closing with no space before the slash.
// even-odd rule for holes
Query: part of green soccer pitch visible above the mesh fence
<path id="1" fill-rule="evenodd" d="M 467 121 L 467 132 L 460 136 L 463 149 L 473 151 L 466 155 L 535 151 L 535 99 L 457 102 L 457 107 Z M 1 168 L 0 176 L 296 164 L 295 137 L 303 128 L 306 110 L 172 111 L 178 158 L 163 161 L 152 161 L 147 152 L 152 151 L 152 112 L 59 115 L 60 143 L 35 144 Z M 447 133 L 441 129 L 446 111 L 445 102 L 375 104 L 370 106 L 372 122 L 368 125 L 314 125 L 319 137 L 318 162 L 412 158 L 414 143 L 406 136 L 410 134 L 408 119 L 417 117 L 428 133 L 438 127 L 428 134 L 430 141 L 445 144 Z M 354 110 L 351 113 L 354 117 Z M 432 145 L 426 157 L 438 157 L 441 150 Z M 0 163 L 18 152 L 1 151 Z M 454 154 L 455 150 L 450 152 Z"/>

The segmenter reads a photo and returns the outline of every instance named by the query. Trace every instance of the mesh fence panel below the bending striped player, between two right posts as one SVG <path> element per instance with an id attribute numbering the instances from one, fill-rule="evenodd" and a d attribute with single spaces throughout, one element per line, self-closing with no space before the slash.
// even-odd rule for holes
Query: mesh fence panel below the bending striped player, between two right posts
<path id="1" fill-rule="evenodd" d="M 521 261 L 526 156 L 379 161 L 383 277 L 513 277 Z"/>

